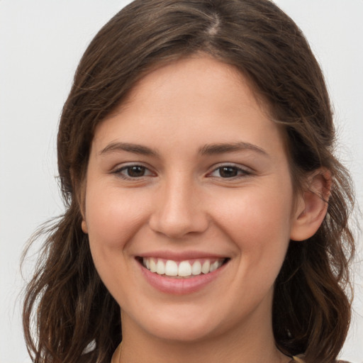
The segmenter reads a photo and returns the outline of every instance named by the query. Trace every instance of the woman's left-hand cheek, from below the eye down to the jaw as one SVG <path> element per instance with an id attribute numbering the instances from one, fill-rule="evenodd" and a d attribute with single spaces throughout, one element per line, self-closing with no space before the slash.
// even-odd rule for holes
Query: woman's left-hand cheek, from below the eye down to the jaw
<path id="1" fill-rule="evenodd" d="M 128 304 L 130 286 L 127 281 L 133 279 L 127 257 L 135 236 L 147 219 L 147 203 L 140 201 L 132 192 L 117 188 L 89 184 L 86 190 L 91 255 L 101 280 L 122 305 Z"/>

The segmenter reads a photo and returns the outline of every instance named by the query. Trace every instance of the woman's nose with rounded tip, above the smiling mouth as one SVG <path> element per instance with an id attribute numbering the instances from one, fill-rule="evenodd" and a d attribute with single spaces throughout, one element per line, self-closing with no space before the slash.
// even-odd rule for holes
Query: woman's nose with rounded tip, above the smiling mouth
<path id="1" fill-rule="evenodd" d="M 208 228 L 201 191 L 190 181 L 176 178 L 166 182 L 155 194 L 150 228 L 169 238 L 184 238 Z"/>

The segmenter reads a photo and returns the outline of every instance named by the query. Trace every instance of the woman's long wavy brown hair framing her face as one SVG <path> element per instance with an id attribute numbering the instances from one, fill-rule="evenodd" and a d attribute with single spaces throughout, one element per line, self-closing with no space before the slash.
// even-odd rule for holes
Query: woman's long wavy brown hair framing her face
<path id="1" fill-rule="evenodd" d="M 318 232 L 291 241 L 276 281 L 277 347 L 308 363 L 335 362 L 350 323 L 350 177 L 333 156 L 335 130 L 318 62 L 301 30 L 268 0 L 136 0 L 92 40 L 58 133 L 65 215 L 48 233 L 23 308 L 34 362 L 109 362 L 121 341 L 118 304 L 102 284 L 81 229 L 82 182 L 94 130 L 152 67 L 196 52 L 237 67 L 286 133 L 296 186 L 319 167 L 333 178 Z M 35 238 L 38 238 L 36 236 Z M 35 321 L 35 337 L 30 325 Z M 95 348 L 82 354 L 87 345 Z"/>

